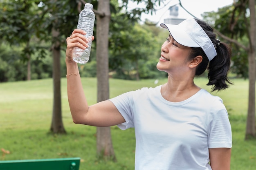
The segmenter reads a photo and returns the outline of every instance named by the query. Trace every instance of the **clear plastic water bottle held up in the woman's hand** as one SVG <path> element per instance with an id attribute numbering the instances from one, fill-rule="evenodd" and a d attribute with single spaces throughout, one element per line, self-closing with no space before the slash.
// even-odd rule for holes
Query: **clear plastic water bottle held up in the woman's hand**
<path id="1" fill-rule="evenodd" d="M 87 63 L 90 57 L 92 33 L 95 21 L 95 14 L 92 11 L 92 7 L 92 4 L 87 3 L 85 4 L 83 11 L 79 13 L 77 29 L 85 31 L 86 34 L 84 36 L 89 39 L 88 47 L 85 50 L 76 47 L 73 51 L 73 60 L 80 64 Z"/>

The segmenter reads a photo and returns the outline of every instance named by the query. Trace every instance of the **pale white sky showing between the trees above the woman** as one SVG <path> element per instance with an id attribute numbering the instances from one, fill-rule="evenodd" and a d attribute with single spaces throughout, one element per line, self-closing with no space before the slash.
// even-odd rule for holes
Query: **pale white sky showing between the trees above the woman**
<path id="1" fill-rule="evenodd" d="M 234 0 L 180 0 L 182 6 L 189 11 L 191 14 L 193 14 L 196 18 L 202 19 L 201 14 L 204 12 L 210 12 L 210 11 L 218 11 L 218 8 L 225 7 L 227 5 L 231 5 Z M 181 6 L 179 0 L 165 0 L 164 4 L 162 4 L 160 7 L 157 6 L 155 14 L 142 14 L 141 20 L 144 21 L 146 19 L 152 21 L 152 22 L 163 22 L 164 19 L 170 18 L 169 15 L 169 7 L 172 5 L 177 4 L 177 7 L 179 8 L 179 15 L 177 18 L 192 18 L 193 16 L 189 15 Z M 128 7 L 130 9 L 136 8 L 136 7 L 145 7 L 144 4 L 137 4 L 128 2 Z"/>

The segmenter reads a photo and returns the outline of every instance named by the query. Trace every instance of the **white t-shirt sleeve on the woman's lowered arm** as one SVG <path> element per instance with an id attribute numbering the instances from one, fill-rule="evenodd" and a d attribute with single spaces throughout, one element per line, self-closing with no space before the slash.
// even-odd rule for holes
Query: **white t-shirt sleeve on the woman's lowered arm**
<path id="1" fill-rule="evenodd" d="M 208 147 L 231 148 L 232 132 L 229 115 L 222 104 L 222 100 L 216 100 L 208 116 Z"/>

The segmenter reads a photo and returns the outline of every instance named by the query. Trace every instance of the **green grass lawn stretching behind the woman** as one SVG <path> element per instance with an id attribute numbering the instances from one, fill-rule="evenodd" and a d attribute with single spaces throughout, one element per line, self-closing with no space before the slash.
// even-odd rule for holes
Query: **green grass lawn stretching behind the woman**
<path id="1" fill-rule="evenodd" d="M 147 86 L 166 82 L 153 79 L 128 81 L 110 79 L 110 97 Z M 233 133 L 231 170 L 255 170 L 256 140 L 245 141 L 248 103 L 248 80 L 232 79 L 226 91 L 213 93 L 223 99 Z M 196 84 L 207 90 L 207 79 L 197 78 Z M 97 80 L 82 78 L 89 104 L 97 101 Z M 0 160 L 81 157 L 80 170 L 133 170 L 135 154 L 134 130 L 111 127 L 117 162 L 96 159 L 96 128 L 74 124 L 67 102 L 66 79 L 61 80 L 62 114 L 67 135 L 51 135 L 49 128 L 53 107 L 52 79 L 0 84 L 0 148 L 10 154 Z"/>

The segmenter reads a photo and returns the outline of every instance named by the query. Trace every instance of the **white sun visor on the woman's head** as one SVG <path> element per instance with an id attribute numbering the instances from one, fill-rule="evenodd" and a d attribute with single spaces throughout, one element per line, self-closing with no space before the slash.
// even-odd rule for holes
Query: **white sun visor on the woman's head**
<path id="1" fill-rule="evenodd" d="M 173 39 L 188 47 L 201 47 L 211 61 L 216 55 L 216 49 L 208 35 L 195 19 L 186 19 L 178 25 L 160 24 L 163 28 L 169 30 Z"/>

